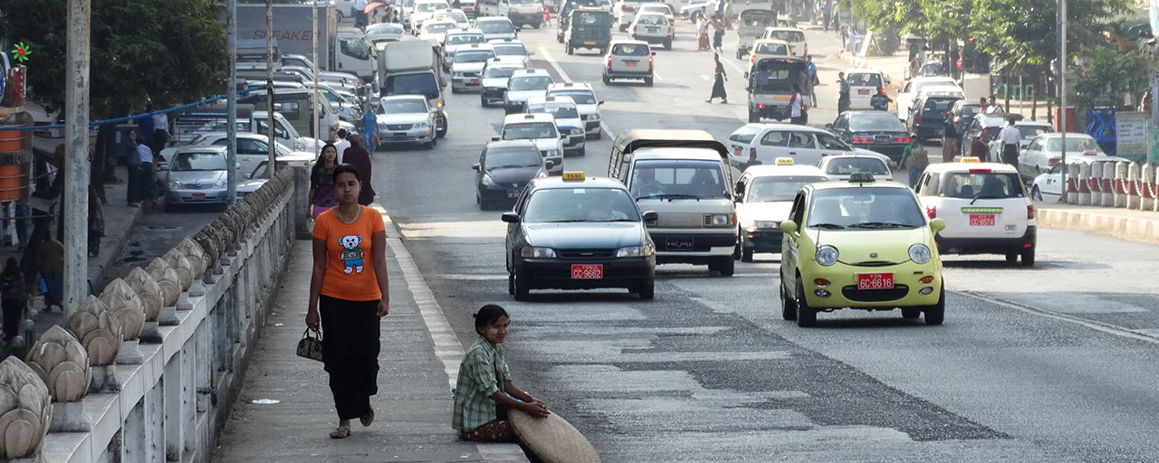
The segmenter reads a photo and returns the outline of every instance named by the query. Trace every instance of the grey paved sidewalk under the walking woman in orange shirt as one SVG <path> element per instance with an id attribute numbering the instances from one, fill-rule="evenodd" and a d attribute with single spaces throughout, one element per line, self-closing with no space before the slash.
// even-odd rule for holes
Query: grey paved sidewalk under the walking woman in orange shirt
<path id="1" fill-rule="evenodd" d="M 285 291 L 277 292 L 265 318 L 214 461 L 527 462 L 517 444 L 462 441 L 451 429 L 451 366 L 444 363 L 447 348 L 442 346 L 446 333 L 431 333 L 424 322 L 429 314 L 410 288 L 425 284 L 409 255 L 396 255 L 404 252 L 399 236 L 387 221 L 391 314 L 381 324 L 379 392 L 371 399 L 374 424 L 363 427 L 356 420 L 350 438 L 327 436 L 337 417 L 326 372 L 322 363 L 294 354 L 305 330 L 312 258 L 309 242 L 297 241 L 280 282 Z M 430 303 L 427 297 L 420 299 Z M 438 350 L 432 337 L 440 341 Z M 461 352 L 458 340 L 452 341 Z"/>

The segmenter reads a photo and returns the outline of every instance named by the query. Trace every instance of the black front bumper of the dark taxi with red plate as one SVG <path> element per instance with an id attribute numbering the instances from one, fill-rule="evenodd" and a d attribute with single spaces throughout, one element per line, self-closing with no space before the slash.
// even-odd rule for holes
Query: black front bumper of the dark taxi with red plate
<path id="1" fill-rule="evenodd" d="M 571 278 L 573 264 L 602 264 L 604 278 L 578 280 Z M 520 281 L 533 289 L 591 289 L 632 288 L 656 275 L 656 256 L 582 258 L 515 258 L 515 271 Z"/>

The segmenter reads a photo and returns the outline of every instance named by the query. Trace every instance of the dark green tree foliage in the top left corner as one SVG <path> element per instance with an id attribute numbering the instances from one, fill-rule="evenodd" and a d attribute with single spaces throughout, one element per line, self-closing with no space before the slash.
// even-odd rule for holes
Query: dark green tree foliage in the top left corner
<path id="1" fill-rule="evenodd" d="M 6 0 L 0 32 L 32 46 L 28 83 L 50 106 L 64 101 L 66 0 Z M 213 0 L 102 0 L 92 6 L 93 117 L 117 108 L 196 101 L 225 89 L 226 41 Z"/>

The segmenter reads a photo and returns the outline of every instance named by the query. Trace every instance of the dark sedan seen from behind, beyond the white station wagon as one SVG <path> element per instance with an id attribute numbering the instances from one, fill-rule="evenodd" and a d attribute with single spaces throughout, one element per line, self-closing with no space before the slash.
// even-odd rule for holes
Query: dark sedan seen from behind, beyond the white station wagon
<path id="1" fill-rule="evenodd" d="M 854 148 L 865 148 L 902 161 L 910 133 L 897 117 L 884 111 L 845 111 L 825 128 Z"/>

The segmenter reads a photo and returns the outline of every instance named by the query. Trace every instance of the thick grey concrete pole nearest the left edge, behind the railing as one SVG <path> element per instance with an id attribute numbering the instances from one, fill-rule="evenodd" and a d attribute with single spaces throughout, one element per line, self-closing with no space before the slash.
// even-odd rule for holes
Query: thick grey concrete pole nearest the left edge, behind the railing
<path id="1" fill-rule="evenodd" d="M 68 0 L 65 51 L 65 294 L 67 319 L 88 295 L 89 0 Z"/>

